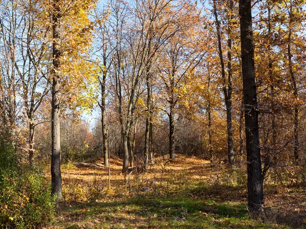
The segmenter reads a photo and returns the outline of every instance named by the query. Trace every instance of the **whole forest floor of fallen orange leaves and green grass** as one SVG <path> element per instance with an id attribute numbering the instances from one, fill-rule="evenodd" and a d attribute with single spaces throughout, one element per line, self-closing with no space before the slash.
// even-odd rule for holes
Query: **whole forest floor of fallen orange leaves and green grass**
<path id="1" fill-rule="evenodd" d="M 47 228 L 306 228 L 306 191 L 271 178 L 266 212 L 247 211 L 246 171 L 196 157 L 156 159 L 146 173 L 121 174 L 122 160 L 109 170 L 93 164 L 62 168 L 64 201 Z M 274 180 L 273 180 L 274 179 Z"/>

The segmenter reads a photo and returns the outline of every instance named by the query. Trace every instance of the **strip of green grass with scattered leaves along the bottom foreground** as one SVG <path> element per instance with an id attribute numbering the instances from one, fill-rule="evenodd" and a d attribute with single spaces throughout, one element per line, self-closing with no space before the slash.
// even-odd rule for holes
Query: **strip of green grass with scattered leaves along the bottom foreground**
<path id="1" fill-rule="evenodd" d="M 64 206 L 53 226 L 62 228 L 289 228 L 253 219 L 245 203 L 139 195 L 106 203 Z"/>

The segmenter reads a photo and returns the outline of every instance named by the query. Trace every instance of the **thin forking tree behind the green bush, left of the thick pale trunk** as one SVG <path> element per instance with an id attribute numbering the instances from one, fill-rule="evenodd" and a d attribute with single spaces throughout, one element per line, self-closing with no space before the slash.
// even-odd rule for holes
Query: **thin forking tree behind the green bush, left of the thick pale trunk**
<path id="1" fill-rule="evenodd" d="M 22 2 L 23 28 L 27 33 L 21 33 L 18 43 L 20 59 L 14 60 L 14 66 L 21 81 L 20 95 L 23 99 L 25 113 L 29 125 L 29 162 L 32 165 L 34 149 L 35 127 L 37 121 L 36 111 L 49 92 L 48 78 L 48 48 L 47 39 L 50 30 L 49 25 L 42 27 L 47 20 L 43 8 L 39 2 Z M 36 9 L 33 11 L 33 9 Z M 39 25 L 39 26 L 37 26 Z"/>

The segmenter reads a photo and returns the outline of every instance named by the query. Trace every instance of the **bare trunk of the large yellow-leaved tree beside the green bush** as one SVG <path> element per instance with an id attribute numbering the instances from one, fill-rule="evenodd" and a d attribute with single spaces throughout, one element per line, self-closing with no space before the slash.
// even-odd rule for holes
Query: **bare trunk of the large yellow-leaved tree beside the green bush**
<path id="1" fill-rule="evenodd" d="M 51 180 L 52 194 L 57 201 L 62 200 L 62 174 L 61 174 L 61 132 L 60 132 L 60 2 L 54 1 L 52 13 L 53 23 L 53 70 L 52 70 L 52 118 L 51 118 Z"/>

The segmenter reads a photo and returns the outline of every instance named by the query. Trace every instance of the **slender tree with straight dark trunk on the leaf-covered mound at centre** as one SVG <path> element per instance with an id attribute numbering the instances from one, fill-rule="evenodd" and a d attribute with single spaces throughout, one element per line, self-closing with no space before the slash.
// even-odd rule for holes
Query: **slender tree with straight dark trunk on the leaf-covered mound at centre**
<path id="1" fill-rule="evenodd" d="M 184 94 L 181 91 L 186 91 L 185 77 L 193 73 L 206 53 L 202 44 L 199 43 L 200 30 L 196 30 L 195 27 L 199 18 L 189 16 L 188 21 L 192 21 L 193 25 L 184 26 L 184 30 L 169 39 L 161 55 L 163 64 L 158 66 L 165 91 L 165 111 L 169 117 L 169 157 L 172 160 L 175 159 L 175 116 L 177 116 L 177 110 L 182 107 L 180 94 Z"/>

